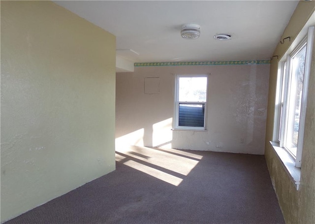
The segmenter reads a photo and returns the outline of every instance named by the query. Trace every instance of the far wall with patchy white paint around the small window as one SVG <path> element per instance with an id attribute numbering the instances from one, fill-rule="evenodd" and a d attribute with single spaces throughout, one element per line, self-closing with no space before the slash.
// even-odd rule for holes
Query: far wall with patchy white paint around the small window
<path id="1" fill-rule="evenodd" d="M 116 145 L 264 154 L 269 67 L 148 66 L 117 73 Z M 209 73 L 208 131 L 172 131 L 174 74 Z M 159 77 L 159 94 L 144 93 L 146 77 Z"/>

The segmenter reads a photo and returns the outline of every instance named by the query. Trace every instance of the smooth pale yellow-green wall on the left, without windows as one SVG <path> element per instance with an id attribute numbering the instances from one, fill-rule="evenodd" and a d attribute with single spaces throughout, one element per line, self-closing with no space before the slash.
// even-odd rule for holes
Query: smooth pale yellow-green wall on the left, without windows
<path id="1" fill-rule="evenodd" d="M 1 222 L 115 169 L 115 36 L 1 1 Z"/>

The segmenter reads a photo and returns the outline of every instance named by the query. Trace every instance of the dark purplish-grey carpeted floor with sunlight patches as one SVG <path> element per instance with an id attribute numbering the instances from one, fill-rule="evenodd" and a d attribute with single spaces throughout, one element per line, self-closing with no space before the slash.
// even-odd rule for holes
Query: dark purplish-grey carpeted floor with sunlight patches
<path id="1" fill-rule="evenodd" d="M 116 170 L 5 224 L 284 224 L 264 156 L 130 147 Z"/>

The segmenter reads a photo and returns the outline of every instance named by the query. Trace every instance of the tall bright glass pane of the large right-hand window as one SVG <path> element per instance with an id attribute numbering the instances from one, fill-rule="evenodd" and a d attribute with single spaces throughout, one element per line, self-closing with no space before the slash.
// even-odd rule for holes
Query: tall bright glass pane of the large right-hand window
<path id="1" fill-rule="evenodd" d="M 291 60 L 292 72 L 290 77 L 288 119 L 286 133 L 286 148 L 296 156 L 297 139 L 299 134 L 301 97 L 303 91 L 304 65 L 306 46 Z"/>

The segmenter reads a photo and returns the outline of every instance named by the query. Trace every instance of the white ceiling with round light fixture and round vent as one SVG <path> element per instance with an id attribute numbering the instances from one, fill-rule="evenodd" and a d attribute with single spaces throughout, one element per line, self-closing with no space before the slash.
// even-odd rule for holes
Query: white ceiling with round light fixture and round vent
<path id="1" fill-rule="evenodd" d="M 138 62 L 266 60 L 298 1 L 55 1 L 116 36 L 117 55 Z M 180 36 L 200 25 L 199 39 Z M 226 33 L 231 40 L 213 36 Z M 138 54 L 136 54 L 136 53 Z"/>

